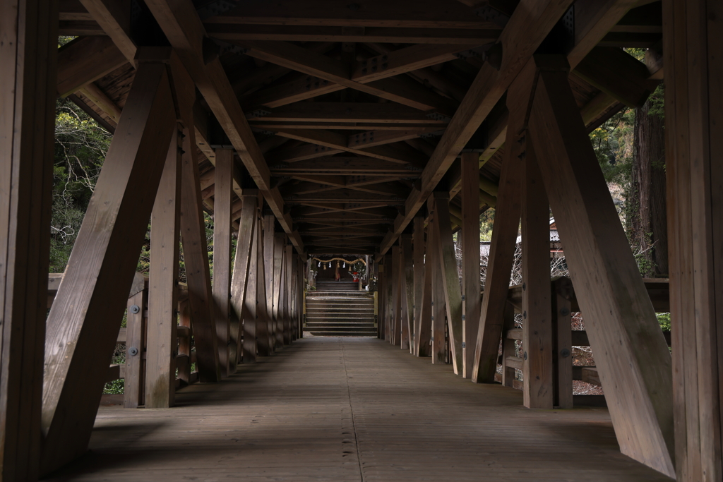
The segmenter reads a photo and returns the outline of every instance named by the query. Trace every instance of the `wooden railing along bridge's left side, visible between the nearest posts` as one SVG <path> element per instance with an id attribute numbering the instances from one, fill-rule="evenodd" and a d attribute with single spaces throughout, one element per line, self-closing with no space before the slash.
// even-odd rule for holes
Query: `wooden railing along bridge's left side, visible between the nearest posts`
<path id="1" fill-rule="evenodd" d="M 48 309 L 52 306 L 63 279 L 62 273 L 48 275 Z M 193 331 L 189 308 L 188 286 L 178 285 L 179 326 L 176 327 L 178 349 L 176 361 L 176 389 L 198 381 L 198 371 L 192 371 L 196 363 L 196 351 L 193 347 Z M 116 343 L 126 346 L 124 364 L 108 366 L 107 382 L 124 380 L 123 405 L 137 408 L 145 404 L 145 359 L 147 350 L 148 319 L 148 278 L 136 273 L 128 296 L 126 327 L 121 327 Z"/>

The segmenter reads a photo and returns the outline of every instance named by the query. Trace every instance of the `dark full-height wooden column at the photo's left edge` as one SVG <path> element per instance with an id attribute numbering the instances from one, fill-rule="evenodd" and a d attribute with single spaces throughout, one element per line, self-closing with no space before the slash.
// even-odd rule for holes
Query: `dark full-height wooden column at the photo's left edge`
<path id="1" fill-rule="evenodd" d="M 53 196 L 58 2 L 0 4 L 0 479 L 35 481 Z"/>

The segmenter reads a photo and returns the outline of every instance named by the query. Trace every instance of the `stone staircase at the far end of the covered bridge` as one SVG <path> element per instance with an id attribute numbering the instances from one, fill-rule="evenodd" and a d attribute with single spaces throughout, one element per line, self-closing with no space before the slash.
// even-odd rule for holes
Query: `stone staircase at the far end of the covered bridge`
<path id="1" fill-rule="evenodd" d="M 374 296 L 358 283 L 317 281 L 316 291 L 307 292 L 304 335 L 377 336 Z"/>

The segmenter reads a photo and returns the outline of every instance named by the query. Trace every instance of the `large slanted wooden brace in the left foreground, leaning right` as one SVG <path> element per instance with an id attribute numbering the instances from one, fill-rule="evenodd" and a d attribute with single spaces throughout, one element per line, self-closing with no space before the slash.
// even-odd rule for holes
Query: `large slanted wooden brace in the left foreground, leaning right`
<path id="1" fill-rule="evenodd" d="M 166 65 L 141 62 L 48 316 L 45 474 L 87 449 L 176 128 Z"/>

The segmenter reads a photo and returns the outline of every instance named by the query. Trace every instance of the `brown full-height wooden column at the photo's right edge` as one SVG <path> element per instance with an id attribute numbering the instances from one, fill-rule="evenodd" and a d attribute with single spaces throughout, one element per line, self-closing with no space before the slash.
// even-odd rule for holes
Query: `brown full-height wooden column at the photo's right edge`
<path id="1" fill-rule="evenodd" d="M 723 9 L 663 2 L 677 480 L 723 478 Z M 607 392 L 606 392 L 607 395 Z"/>

